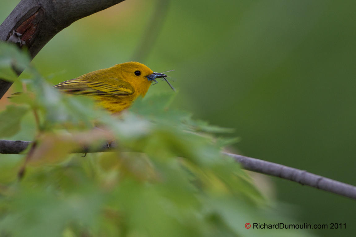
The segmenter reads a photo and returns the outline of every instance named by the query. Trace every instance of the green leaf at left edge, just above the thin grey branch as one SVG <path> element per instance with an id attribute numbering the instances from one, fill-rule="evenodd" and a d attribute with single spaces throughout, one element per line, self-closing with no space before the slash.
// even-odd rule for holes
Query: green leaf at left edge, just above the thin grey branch
<path id="1" fill-rule="evenodd" d="M 0 113 L 0 137 L 10 137 L 20 130 L 21 118 L 28 111 L 25 106 L 6 106 L 6 110 Z"/>

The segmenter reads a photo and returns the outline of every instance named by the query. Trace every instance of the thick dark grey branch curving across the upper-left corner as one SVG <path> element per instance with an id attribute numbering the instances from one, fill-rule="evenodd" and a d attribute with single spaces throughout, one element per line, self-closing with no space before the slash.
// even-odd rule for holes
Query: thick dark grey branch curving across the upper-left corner
<path id="1" fill-rule="evenodd" d="M 0 25 L 0 40 L 26 46 L 33 59 L 45 44 L 74 21 L 124 0 L 21 0 Z M 21 74 L 21 72 L 17 72 Z M 0 79 L 0 99 L 12 82 Z"/>

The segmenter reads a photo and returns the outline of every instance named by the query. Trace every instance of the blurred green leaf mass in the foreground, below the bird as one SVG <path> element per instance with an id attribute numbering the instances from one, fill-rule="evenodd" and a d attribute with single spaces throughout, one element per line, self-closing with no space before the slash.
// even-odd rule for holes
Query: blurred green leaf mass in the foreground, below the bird
<path id="1" fill-rule="evenodd" d="M 25 57 L 3 52 L 8 51 L 0 56 L 8 69 L 17 56 Z M 56 92 L 30 64 L 27 68 L 31 78 L 15 81 L 27 91 L 13 96 L 19 105 L 2 112 L 0 129 L 13 135 L 30 108 L 36 146 L 26 158 L 1 160 L 0 236 L 266 236 L 245 223 L 281 220 L 267 218 L 262 212 L 269 210 L 267 202 L 250 178 L 221 154 L 221 146 L 236 139 L 211 133 L 230 130 L 169 109 L 172 94 L 138 99 L 113 116 L 88 98 Z M 29 117 L 23 124 L 34 125 L 26 123 Z M 112 139 L 118 148 L 111 152 L 68 154 Z M 268 235 L 307 233 L 268 230 Z"/>

